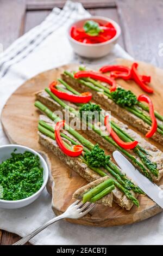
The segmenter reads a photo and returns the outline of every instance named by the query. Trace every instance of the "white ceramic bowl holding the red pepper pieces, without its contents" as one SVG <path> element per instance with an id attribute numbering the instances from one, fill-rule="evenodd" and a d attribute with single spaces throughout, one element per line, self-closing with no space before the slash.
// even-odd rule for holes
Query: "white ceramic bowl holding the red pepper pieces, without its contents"
<path id="1" fill-rule="evenodd" d="M 70 35 L 71 27 L 75 25 L 77 26 L 77 28 L 82 28 L 85 21 L 87 20 L 101 22 L 103 25 L 105 25 L 107 22 L 111 22 L 117 31 L 115 37 L 113 37 L 112 39 L 104 43 L 98 43 L 98 44 L 86 44 L 86 43 L 81 43 L 81 42 L 78 42 L 77 40 L 74 40 Z M 117 22 L 101 16 L 91 16 L 86 19 L 78 20 L 72 23 L 70 27 L 68 27 L 68 40 L 70 41 L 70 44 L 74 52 L 86 58 L 99 58 L 107 55 L 113 49 L 114 45 L 117 43 L 117 39 L 118 37 L 120 37 L 120 34 L 121 34 L 121 28 Z"/>

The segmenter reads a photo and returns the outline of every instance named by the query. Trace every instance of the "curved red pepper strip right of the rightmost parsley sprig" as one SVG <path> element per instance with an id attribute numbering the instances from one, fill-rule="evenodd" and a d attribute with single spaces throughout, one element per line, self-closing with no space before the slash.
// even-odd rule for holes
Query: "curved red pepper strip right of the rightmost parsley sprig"
<path id="1" fill-rule="evenodd" d="M 149 105 L 149 114 L 151 116 L 152 126 L 149 132 L 146 134 L 146 137 L 151 138 L 158 128 L 158 124 L 154 115 L 154 107 L 153 107 L 152 100 L 147 95 L 144 95 L 144 94 L 140 95 L 137 98 L 137 100 L 139 100 L 140 102 L 146 102 Z"/>

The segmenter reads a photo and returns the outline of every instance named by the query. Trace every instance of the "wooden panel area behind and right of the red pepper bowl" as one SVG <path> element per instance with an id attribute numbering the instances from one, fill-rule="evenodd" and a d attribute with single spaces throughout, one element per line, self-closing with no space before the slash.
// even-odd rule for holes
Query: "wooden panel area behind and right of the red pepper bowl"
<path id="1" fill-rule="evenodd" d="M 121 21 L 119 19 L 117 8 L 98 8 L 98 9 L 90 9 L 89 12 L 91 15 L 97 15 L 97 16 L 104 16 L 108 17 L 112 20 L 115 20 L 123 29 Z M 122 31 L 123 35 L 123 31 Z M 118 40 L 118 43 L 125 49 L 124 40 L 122 35 L 120 36 L 120 39 Z"/>

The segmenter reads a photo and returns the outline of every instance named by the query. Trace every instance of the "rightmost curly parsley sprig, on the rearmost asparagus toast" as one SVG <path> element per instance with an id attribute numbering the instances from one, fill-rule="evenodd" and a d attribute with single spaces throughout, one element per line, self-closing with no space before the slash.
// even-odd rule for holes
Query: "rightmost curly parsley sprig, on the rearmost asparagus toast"
<path id="1" fill-rule="evenodd" d="M 137 103 L 137 98 L 131 91 L 117 88 L 116 91 L 111 92 L 111 97 L 120 106 L 133 106 Z"/>

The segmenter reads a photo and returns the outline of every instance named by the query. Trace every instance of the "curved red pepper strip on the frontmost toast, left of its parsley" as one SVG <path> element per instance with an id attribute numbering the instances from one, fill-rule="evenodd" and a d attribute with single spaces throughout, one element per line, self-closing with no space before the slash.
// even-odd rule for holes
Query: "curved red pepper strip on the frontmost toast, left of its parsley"
<path id="1" fill-rule="evenodd" d="M 64 142 L 61 139 L 60 136 L 60 130 L 64 128 L 65 121 L 60 121 L 55 126 L 55 140 L 57 141 L 57 144 L 62 152 L 70 157 L 78 157 L 80 154 L 82 154 L 83 146 L 82 145 L 75 145 L 73 146 L 73 151 L 69 150 Z"/>

